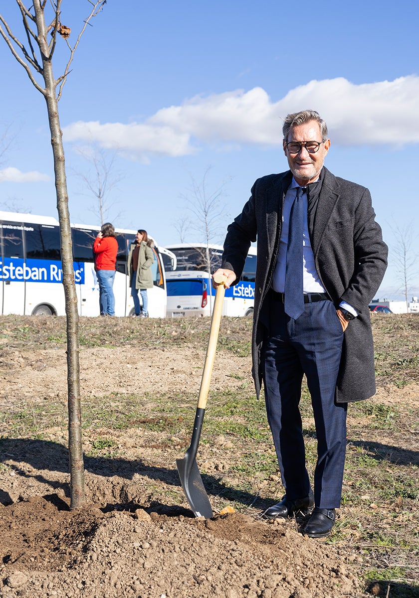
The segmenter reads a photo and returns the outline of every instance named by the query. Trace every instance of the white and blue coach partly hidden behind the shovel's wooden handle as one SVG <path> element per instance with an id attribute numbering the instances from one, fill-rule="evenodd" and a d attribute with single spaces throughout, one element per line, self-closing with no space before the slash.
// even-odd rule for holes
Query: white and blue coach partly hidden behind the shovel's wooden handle
<path id="1" fill-rule="evenodd" d="M 221 245 L 179 243 L 166 245 L 174 253 L 176 268 L 165 261 L 168 292 L 168 318 L 210 316 L 214 306 L 215 290 L 211 274 L 221 266 Z M 251 316 L 254 306 L 254 279 L 256 276 L 256 248 L 249 249 L 240 282 L 226 289 L 223 316 Z"/>

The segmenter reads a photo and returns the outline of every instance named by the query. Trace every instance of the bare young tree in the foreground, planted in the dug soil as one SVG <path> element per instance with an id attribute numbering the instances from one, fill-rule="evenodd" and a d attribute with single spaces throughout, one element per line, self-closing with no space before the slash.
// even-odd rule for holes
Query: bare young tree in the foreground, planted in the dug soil
<path id="1" fill-rule="evenodd" d="M 57 210 L 60 222 L 61 260 L 65 311 L 67 317 L 67 386 L 68 429 L 71 508 L 81 507 L 86 501 L 84 494 L 84 465 L 81 444 L 80 362 L 78 343 L 77 294 L 72 261 L 71 228 L 68 211 L 68 191 L 65 173 L 64 148 L 59 121 L 58 100 L 66 83 L 70 65 L 80 43 L 81 36 L 90 20 L 102 10 L 107 0 L 86 0 L 90 13 L 75 39 L 69 43 L 71 29 L 61 22 L 63 0 L 31 0 L 29 8 L 23 0 L 16 0 L 23 23 L 25 42 L 15 35 L 7 20 L 0 14 L 0 35 L 8 45 L 17 62 L 25 69 L 29 80 L 42 96 L 47 106 L 48 123 L 54 160 L 54 176 Z M 47 13 L 47 14 L 45 14 Z M 49 16 L 48 16 L 49 15 Z M 69 56 L 62 74 L 56 79 L 53 73 L 54 52 L 61 36 L 68 45 Z M 26 45 L 25 45 L 26 44 Z"/>

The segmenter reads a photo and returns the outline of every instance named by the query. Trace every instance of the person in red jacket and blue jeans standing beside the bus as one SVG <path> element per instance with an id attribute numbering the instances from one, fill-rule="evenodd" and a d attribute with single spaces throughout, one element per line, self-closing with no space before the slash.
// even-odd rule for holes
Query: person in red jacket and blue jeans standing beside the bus
<path id="1" fill-rule="evenodd" d="M 95 252 L 95 270 L 99 283 L 99 304 L 101 316 L 115 315 L 115 297 L 113 285 L 116 272 L 118 242 L 115 229 L 110 222 L 102 224 L 102 230 L 93 243 Z"/>

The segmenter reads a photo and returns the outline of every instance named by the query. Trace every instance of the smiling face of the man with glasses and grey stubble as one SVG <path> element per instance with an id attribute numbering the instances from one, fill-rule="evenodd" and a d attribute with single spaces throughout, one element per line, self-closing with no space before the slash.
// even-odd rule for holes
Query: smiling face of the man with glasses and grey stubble
<path id="1" fill-rule="evenodd" d="M 292 154 L 286 147 L 290 141 L 317 141 L 321 142 L 320 125 L 315 120 L 305 124 L 299 124 L 290 129 L 288 139 L 284 139 L 284 152 L 294 175 L 296 182 L 305 187 L 308 183 L 317 179 L 320 170 L 323 168 L 324 158 L 330 147 L 330 139 L 320 144 L 315 154 L 309 154 L 305 147 L 300 148 L 297 154 Z"/>

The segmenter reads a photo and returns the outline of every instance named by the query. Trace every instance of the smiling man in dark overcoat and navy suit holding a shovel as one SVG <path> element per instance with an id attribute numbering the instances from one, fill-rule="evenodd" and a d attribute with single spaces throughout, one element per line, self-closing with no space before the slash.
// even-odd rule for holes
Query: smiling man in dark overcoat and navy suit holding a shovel
<path id="1" fill-rule="evenodd" d="M 347 403 L 375 394 L 368 304 L 387 246 L 368 189 L 324 167 L 330 140 L 320 115 L 289 114 L 283 133 L 290 170 L 254 183 L 227 228 L 220 271 L 227 288 L 238 282 L 257 240 L 252 373 L 258 396 L 263 381 L 286 490 L 265 517 L 314 507 L 304 533 L 319 538 L 330 533 L 341 501 Z M 314 493 L 299 411 L 303 374 L 317 435 Z"/>

